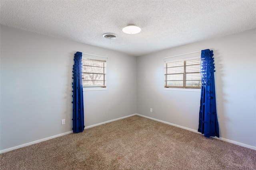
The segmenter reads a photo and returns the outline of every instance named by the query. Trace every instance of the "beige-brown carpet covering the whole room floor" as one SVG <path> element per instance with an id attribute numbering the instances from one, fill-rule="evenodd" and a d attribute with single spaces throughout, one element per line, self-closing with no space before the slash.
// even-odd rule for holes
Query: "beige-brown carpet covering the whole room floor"
<path id="1" fill-rule="evenodd" d="M 0 154 L 1 170 L 256 170 L 256 150 L 140 116 Z"/>

